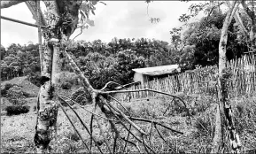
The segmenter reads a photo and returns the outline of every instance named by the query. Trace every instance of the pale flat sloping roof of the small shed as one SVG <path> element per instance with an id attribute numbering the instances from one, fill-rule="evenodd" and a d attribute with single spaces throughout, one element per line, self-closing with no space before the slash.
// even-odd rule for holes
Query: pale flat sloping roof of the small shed
<path id="1" fill-rule="evenodd" d="M 155 67 L 136 68 L 133 69 L 136 73 L 142 73 L 145 75 L 155 76 L 167 73 L 181 72 L 179 65 L 160 65 Z"/>

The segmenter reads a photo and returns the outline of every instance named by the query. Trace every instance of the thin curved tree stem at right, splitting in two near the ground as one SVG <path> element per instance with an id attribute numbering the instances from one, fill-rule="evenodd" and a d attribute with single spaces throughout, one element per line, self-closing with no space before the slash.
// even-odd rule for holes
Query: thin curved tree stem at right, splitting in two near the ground
<path id="1" fill-rule="evenodd" d="M 223 132 L 223 128 L 221 128 L 221 123 L 226 121 L 226 125 L 228 127 L 229 134 L 229 145 L 232 150 L 239 151 L 241 148 L 241 142 L 239 141 L 239 136 L 237 134 L 237 130 L 234 126 L 233 115 L 231 104 L 229 100 L 229 91 L 228 91 L 228 80 L 231 76 L 231 72 L 229 68 L 226 68 L 226 52 L 227 52 L 227 42 L 228 42 L 228 28 L 231 23 L 231 20 L 234 17 L 235 12 L 237 12 L 237 7 L 239 3 L 234 1 L 234 3 L 229 8 L 226 19 L 224 20 L 223 27 L 221 29 L 221 40 L 219 43 L 219 96 L 220 96 L 220 104 L 217 107 L 217 110 L 220 110 L 216 114 L 216 127 L 215 127 L 215 136 L 213 139 L 213 153 L 219 151 L 221 147 L 221 132 Z M 220 113 L 218 115 L 218 113 Z M 218 131 L 218 132 L 217 132 Z"/>

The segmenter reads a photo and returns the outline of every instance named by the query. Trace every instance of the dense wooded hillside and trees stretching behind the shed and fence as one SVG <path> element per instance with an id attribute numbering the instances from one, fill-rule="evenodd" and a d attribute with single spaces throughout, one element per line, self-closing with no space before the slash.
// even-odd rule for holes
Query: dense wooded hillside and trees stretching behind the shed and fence
<path id="1" fill-rule="evenodd" d="M 192 6 L 190 10 L 194 9 Z M 190 16 L 192 14 L 180 17 L 183 26 L 170 31 L 170 43 L 147 38 L 113 38 L 111 42 L 82 40 L 70 42 L 73 48 L 68 51 L 96 89 L 102 88 L 107 81 L 120 84 L 132 81 L 133 68 L 179 64 L 185 71 L 197 65 L 218 64 L 221 27 L 226 14 L 213 10 L 210 16 L 193 22 L 189 22 Z M 248 51 L 248 46 L 235 19 L 228 33 L 227 58 L 239 58 Z M 30 81 L 40 85 L 38 44 L 12 43 L 6 48 L 1 45 L 1 60 L 2 80 L 28 75 Z M 72 71 L 65 61 L 63 65 L 63 71 Z"/>

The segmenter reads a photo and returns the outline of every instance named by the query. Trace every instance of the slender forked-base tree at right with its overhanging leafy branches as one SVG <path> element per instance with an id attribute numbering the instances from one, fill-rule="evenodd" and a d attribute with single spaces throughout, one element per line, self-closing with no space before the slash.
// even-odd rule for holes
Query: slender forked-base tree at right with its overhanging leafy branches
<path id="1" fill-rule="evenodd" d="M 188 21 L 191 17 L 194 17 L 198 14 L 198 12 L 206 9 L 208 12 L 208 17 L 209 15 L 214 11 L 216 7 L 219 7 L 221 4 L 227 4 L 229 6 L 229 11 L 226 14 L 226 18 L 224 19 L 224 23 L 221 27 L 221 39 L 219 42 L 219 90 L 218 90 L 218 95 L 219 95 L 219 106 L 217 107 L 217 112 L 216 112 L 216 124 L 215 124 L 215 135 L 213 138 L 213 150 L 212 152 L 218 152 L 221 150 L 222 145 L 223 145 L 223 133 L 224 128 L 222 127 L 222 124 L 226 125 L 227 128 L 227 133 L 229 134 L 229 146 L 231 149 L 231 152 L 239 152 L 239 149 L 241 148 L 241 142 L 239 141 L 239 136 L 237 134 L 237 131 L 234 126 L 234 121 L 233 121 L 233 115 L 232 115 L 232 109 L 231 109 L 231 103 L 229 100 L 229 92 L 228 92 L 228 81 L 229 77 L 232 75 L 230 72 L 229 68 L 226 68 L 226 61 L 227 61 L 227 42 L 228 42 L 228 35 L 229 35 L 229 25 L 235 16 L 237 25 L 239 26 L 238 31 L 240 31 L 240 34 L 238 35 L 245 35 L 244 38 L 248 37 L 248 34 L 246 34 L 246 27 L 244 27 L 244 21 L 242 21 L 239 13 L 237 13 L 237 8 L 238 5 L 240 4 L 239 2 L 235 1 L 233 4 L 230 4 L 229 1 L 227 2 L 217 2 L 219 4 L 214 4 L 212 3 L 201 3 L 201 4 L 194 4 L 191 5 L 190 9 L 191 14 L 183 14 L 182 17 L 180 18 L 182 21 Z M 253 1 L 252 1 L 253 3 Z M 211 4 L 213 4 L 211 6 Z M 250 12 L 249 17 L 251 18 L 251 24 L 253 23 L 253 20 L 255 19 L 255 12 L 252 4 L 252 9 L 249 9 L 247 4 L 245 4 L 245 1 L 241 1 L 241 4 L 244 8 L 244 12 L 248 14 Z M 210 6 L 210 7 L 208 7 Z M 210 8 L 210 9 L 207 9 Z M 219 7 L 220 10 L 220 7 Z M 208 17 L 207 20 L 208 21 Z M 254 24 L 255 25 L 255 24 Z M 252 35 L 253 32 L 253 27 L 254 25 L 250 26 L 251 33 L 250 33 L 250 42 L 251 46 L 253 46 L 253 37 L 255 35 Z M 239 39 L 238 39 L 239 40 Z M 245 39 L 246 40 L 246 39 Z M 247 41 L 248 42 L 248 41 Z M 250 47 L 250 46 L 249 46 Z"/>

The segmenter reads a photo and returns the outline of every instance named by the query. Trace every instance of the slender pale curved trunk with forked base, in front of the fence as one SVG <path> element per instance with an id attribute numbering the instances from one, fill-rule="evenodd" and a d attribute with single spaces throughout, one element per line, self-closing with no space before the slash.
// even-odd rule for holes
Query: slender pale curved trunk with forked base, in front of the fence
<path id="1" fill-rule="evenodd" d="M 234 126 L 230 127 L 230 125 L 233 125 L 231 115 L 231 105 L 229 104 L 229 97 L 228 97 L 228 78 L 230 76 L 230 72 L 226 69 L 226 45 L 228 41 L 228 28 L 231 23 L 231 20 L 233 19 L 233 16 L 237 10 L 238 4 L 237 1 L 235 1 L 232 6 L 229 8 L 229 12 L 227 13 L 226 19 L 223 23 L 223 27 L 221 29 L 221 40 L 219 43 L 219 89 L 218 89 L 218 96 L 219 96 L 219 105 L 217 106 L 217 112 L 216 112 L 216 123 L 215 123 L 215 133 L 213 138 L 213 150 L 212 153 L 221 152 L 221 149 L 223 148 L 223 134 L 224 129 L 222 127 L 222 124 L 224 121 L 226 121 L 226 124 L 228 125 L 229 132 L 234 131 Z M 231 130 L 232 129 L 232 130 Z M 236 131 L 236 130 L 235 130 Z M 229 133 L 229 137 L 230 136 Z M 232 144 L 232 142 L 230 142 Z M 237 147 L 236 147 L 237 149 Z"/>

